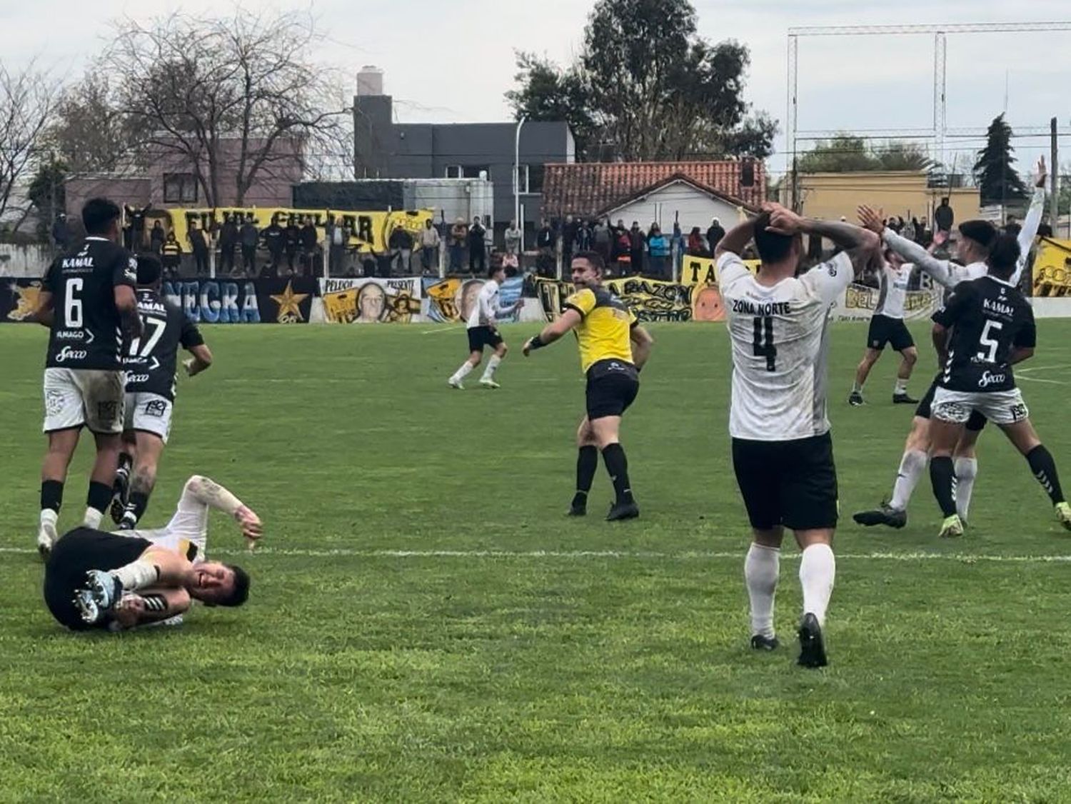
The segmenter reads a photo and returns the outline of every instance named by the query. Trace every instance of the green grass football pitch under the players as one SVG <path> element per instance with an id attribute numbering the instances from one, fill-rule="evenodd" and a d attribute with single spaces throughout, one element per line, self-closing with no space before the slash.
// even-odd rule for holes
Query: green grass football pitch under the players
<path id="1" fill-rule="evenodd" d="M 847 406 L 864 329 L 834 328 L 831 665 L 802 670 L 794 549 L 786 646 L 746 647 L 724 329 L 652 328 L 622 439 L 643 518 L 618 525 L 598 516 L 601 468 L 597 515 L 563 516 L 584 385 L 570 342 L 521 357 L 534 330 L 507 328 L 500 391 L 459 393 L 462 330 L 206 328 L 216 364 L 180 383 L 145 525 L 193 472 L 229 486 L 268 535 L 250 556 L 217 517 L 210 552 L 251 571 L 253 597 L 76 636 L 32 553 L 46 333 L 0 327 L 0 801 L 1071 800 L 1071 537 L 999 433 L 963 540 L 935 537 L 926 481 L 905 530 L 857 528 L 911 410 L 889 401 L 891 355 Z M 1022 383 L 1066 482 L 1069 335 L 1041 323 Z"/>

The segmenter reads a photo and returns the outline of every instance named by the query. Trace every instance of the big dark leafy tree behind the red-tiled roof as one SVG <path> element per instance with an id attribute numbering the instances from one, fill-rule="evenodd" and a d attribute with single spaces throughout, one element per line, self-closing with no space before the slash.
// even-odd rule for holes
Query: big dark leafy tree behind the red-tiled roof
<path id="1" fill-rule="evenodd" d="M 577 63 L 519 54 L 507 100 L 517 118 L 569 122 L 585 155 L 598 141 L 602 158 L 765 157 L 776 123 L 749 115 L 749 60 L 737 42 L 702 39 L 689 0 L 599 0 Z"/>

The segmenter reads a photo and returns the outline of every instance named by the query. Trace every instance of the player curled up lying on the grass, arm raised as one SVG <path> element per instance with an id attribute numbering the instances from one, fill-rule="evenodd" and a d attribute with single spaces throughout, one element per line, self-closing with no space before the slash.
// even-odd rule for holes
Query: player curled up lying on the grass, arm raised
<path id="1" fill-rule="evenodd" d="M 80 527 L 64 534 L 45 566 L 48 610 L 61 625 L 85 631 L 171 620 L 195 600 L 241 606 L 250 576 L 203 558 L 211 509 L 232 516 L 251 546 L 263 533 L 260 518 L 235 495 L 194 475 L 163 528 L 119 534 Z"/>

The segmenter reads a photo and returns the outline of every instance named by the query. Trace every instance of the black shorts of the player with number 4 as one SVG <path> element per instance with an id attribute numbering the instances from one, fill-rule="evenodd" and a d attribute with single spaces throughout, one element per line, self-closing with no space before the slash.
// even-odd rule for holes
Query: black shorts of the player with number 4
<path id="1" fill-rule="evenodd" d="M 836 527 L 836 467 L 828 433 L 791 441 L 734 438 L 733 469 L 755 530 Z"/>

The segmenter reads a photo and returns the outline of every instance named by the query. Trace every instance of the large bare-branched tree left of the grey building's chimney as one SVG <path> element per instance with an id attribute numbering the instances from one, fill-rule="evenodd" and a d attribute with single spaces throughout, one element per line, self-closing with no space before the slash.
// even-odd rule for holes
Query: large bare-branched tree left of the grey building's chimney
<path id="1" fill-rule="evenodd" d="M 307 60 L 320 36 L 306 15 L 178 13 L 115 30 L 99 67 L 117 79 L 119 110 L 149 158 L 190 165 L 209 206 L 244 203 L 255 181 L 330 141 L 348 116 L 331 96 L 331 73 Z"/>

